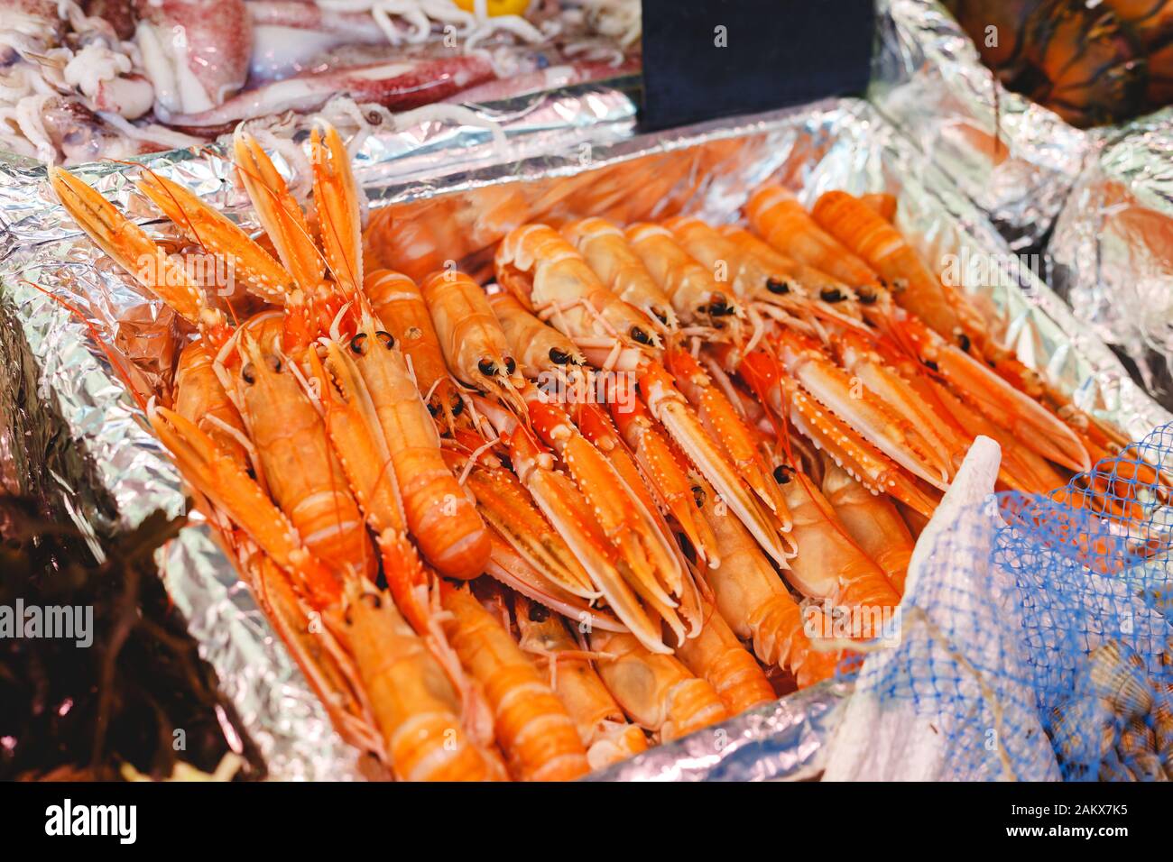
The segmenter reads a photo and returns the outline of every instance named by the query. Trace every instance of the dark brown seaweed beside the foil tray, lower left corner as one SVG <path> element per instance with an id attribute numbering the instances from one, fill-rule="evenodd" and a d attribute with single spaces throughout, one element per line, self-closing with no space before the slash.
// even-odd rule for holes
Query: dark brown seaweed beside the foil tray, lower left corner
<path id="1" fill-rule="evenodd" d="M 101 541 L 99 563 L 72 524 L 0 497 L 0 606 L 91 606 L 94 632 L 88 649 L 0 637 L 0 779 L 115 780 L 123 762 L 164 778 L 179 760 L 211 772 L 230 751 L 228 726 L 244 745 L 239 776 L 263 775 L 155 566 L 155 549 L 182 524 L 156 513 Z"/>

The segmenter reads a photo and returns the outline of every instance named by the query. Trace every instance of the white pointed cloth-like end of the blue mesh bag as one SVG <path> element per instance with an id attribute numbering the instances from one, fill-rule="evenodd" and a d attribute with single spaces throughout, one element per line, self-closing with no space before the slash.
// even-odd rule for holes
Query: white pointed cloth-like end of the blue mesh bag
<path id="1" fill-rule="evenodd" d="M 957 476 L 945 493 L 941 505 L 924 528 L 909 563 L 906 597 L 915 597 L 930 606 L 934 597 L 948 596 L 950 638 L 965 659 L 975 666 L 1017 665 L 1022 667 L 1022 645 L 1012 637 L 1019 631 L 1017 591 L 1003 572 L 990 571 L 990 542 L 1001 517 L 992 497 L 998 464 L 1002 459 L 997 442 L 979 436 L 974 441 Z M 950 536 L 949 534 L 952 534 Z M 950 541 L 960 537 L 960 541 Z M 921 583 L 922 578 L 942 579 Z M 989 596 L 989 591 L 994 596 Z M 979 598 L 994 598 L 998 604 L 1001 625 L 983 625 L 989 605 L 977 606 Z M 999 598 L 1001 596 L 1001 598 Z M 975 606 L 967 608 L 967 599 Z M 927 620 L 901 606 L 904 637 L 916 632 L 922 637 Z M 972 613 L 967 611 L 971 610 Z M 984 615 L 983 615 L 984 610 Z M 920 630 L 917 631 L 917 627 Z M 968 630 L 967 630 L 968 629 Z M 956 666 L 956 659 L 940 640 L 925 638 L 924 649 L 940 666 Z M 933 698 L 915 704 L 910 698 L 882 697 L 874 684 L 888 674 L 900 674 L 895 663 L 907 663 L 901 647 L 881 649 L 868 654 L 860 670 L 855 693 L 843 714 L 830 744 L 825 781 L 940 781 L 989 780 L 1011 778 L 1005 759 L 997 751 L 997 732 L 969 722 L 958 726 L 957 703 L 949 708 L 934 711 Z M 918 659 L 920 663 L 920 659 Z M 983 704 L 982 686 L 967 677 L 956 692 L 955 700 L 968 706 Z M 1010 673 L 1024 678 L 1029 674 Z M 971 683 L 971 684 L 970 684 Z M 1012 761 L 1029 762 L 1030 775 L 1013 775 L 1029 780 L 1058 780 L 1058 765 L 1050 742 L 1038 724 L 1037 712 L 1026 708 L 1033 703 L 1033 692 L 1005 677 L 995 683 L 999 692 L 1002 726 L 1028 728 L 1026 734 L 1015 734 L 1016 751 Z M 943 695 L 942 699 L 949 695 Z M 938 699 L 941 700 L 941 699 Z M 1008 703 L 1009 701 L 1009 703 Z M 927 708 L 929 706 L 929 708 Z M 938 707 L 944 704 L 938 703 Z M 977 722 L 979 724 L 979 722 Z M 1022 737 L 1022 738 L 1021 738 Z M 961 740 L 961 745 L 958 745 Z M 1025 751 L 1023 751 L 1023 746 Z M 1021 771 L 1021 767 L 1019 767 Z"/>

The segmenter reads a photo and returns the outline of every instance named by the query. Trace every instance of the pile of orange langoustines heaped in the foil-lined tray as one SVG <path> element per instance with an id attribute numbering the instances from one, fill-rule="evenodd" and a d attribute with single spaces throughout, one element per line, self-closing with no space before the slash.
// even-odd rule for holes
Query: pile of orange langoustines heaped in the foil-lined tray
<path id="1" fill-rule="evenodd" d="M 780 671 L 827 679 L 879 633 L 832 618 L 899 604 L 976 434 L 1032 491 L 1116 444 L 1047 403 L 890 198 L 807 212 L 762 188 L 750 229 L 527 224 L 496 287 L 416 285 L 364 277 L 345 148 L 328 125 L 310 147 L 313 218 L 238 131 L 259 242 L 137 181 L 271 306 L 243 323 L 50 181 L 198 332 L 149 419 L 335 725 L 399 779 L 576 778 L 772 700 Z"/>

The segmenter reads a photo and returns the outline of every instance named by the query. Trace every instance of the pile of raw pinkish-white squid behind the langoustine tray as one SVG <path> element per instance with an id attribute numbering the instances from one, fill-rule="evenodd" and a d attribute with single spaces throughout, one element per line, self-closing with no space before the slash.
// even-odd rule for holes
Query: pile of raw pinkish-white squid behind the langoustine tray
<path id="1" fill-rule="evenodd" d="M 79 164 L 244 120 L 386 124 L 629 74 L 638 36 L 631 0 L 0 0 L 0 149 Z"/>

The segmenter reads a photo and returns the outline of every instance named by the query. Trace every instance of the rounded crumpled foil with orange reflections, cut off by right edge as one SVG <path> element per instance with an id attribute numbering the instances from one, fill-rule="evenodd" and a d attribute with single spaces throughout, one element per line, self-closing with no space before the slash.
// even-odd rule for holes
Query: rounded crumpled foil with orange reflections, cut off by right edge
<path id="1" fill-rule="evenodd" d="M 1173 110 L 1105 141 L 1047 244 L 1056 290 L 1173 408 Z"/>

